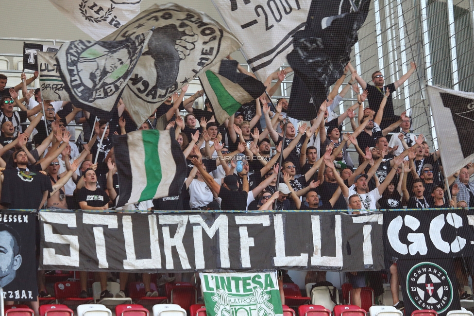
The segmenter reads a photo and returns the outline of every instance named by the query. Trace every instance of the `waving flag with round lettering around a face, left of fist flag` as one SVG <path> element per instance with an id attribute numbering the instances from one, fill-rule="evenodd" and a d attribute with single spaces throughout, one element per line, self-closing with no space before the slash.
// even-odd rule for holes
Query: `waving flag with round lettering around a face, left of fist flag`
<path id="1" fill-rule="evenodd" d="M 89 112 L 110 112 L 151 35 L 148 31 L 119 40 L 64 43 L 56 61 L 71 102 Z"/>

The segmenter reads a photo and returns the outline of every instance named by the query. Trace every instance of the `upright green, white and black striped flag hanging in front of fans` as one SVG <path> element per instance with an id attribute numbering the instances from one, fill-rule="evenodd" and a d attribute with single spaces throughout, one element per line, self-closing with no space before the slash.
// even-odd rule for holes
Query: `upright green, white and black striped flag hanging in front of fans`
<path id="1" fill-rule="evenodd" d="M 187 164 L 174 131 L 141 130 L 113 138 L 119 173 L 117 206 L 178 195 Z"/>

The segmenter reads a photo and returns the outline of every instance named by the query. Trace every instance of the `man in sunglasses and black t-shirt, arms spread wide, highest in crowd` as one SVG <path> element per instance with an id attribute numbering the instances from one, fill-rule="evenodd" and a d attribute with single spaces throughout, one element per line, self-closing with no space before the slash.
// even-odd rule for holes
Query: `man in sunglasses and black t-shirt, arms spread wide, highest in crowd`
<path id="1" fill-rule="evenodd" d="M 355 75 L 355 80 L 359 83 L 362 89 L 364 90 L 367 89 L 369 91 L 367 100 L 369 101 L 369 107 L 375 112 L 378 111 L 379 105 L 384 99 L 384 95 L 385 95 L 385 92 L 387 91 L 387 88 L 390 90 L 390 94 L 387 97 L 387 104 L 385 105 L 385 109 L 384 109 L 383 120 L 382 120 L 382 123 L 380 124 L 380 127 L 382 129 L 387 128 L 391 123 L 394 123 L 398 121 L 399 119 L 397 116 L 395 116 L 395 113 L 393 111 L 393 102 L 392 102 L 391 93 L 393 93 L 396 89 L 398 89 L 401 85 L 403 85 L 403 83 L 411 76 L 411 74 L 415 72 L 416 70 L 415 63 L 411 62 L 410 66 L 411 68 L 402 77 L 400 77 L 400 79 L 398 79 L 397 81 L 389 85 L 384 85 L 385 84 L 384 75 L 382 74 L 381 71 L 375 71 L 374 73 L 372 73 L 373 86 L 365 82 L 365 80 L 362 79 L 358 74 Z M 351 72 L 352 71 L 355 71 L 355 70 L 351 69 Z"/>

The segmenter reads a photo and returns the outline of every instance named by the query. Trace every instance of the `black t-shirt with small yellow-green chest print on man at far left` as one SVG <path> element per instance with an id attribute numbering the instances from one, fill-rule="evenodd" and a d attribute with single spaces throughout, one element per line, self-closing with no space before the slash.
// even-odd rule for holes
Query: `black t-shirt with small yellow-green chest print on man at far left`
<path id="1" fill-rule="evenodd" d="M 1 205 L 9 209 L 36 210 L 45 191 L 52 192 L 51 180 L 39 173 L 41 166 L 3 171 Z"/>

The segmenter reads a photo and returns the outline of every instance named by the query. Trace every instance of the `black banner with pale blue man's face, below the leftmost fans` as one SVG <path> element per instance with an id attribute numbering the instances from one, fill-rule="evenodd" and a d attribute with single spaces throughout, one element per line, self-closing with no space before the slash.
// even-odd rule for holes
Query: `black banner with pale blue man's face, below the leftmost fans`
<path id="1" fill-rule="evenodd" d="M 0 287 L 4 300 L 36 301 L 38 296 L 35 220 L 32 212 L 0 213 Z"/>

